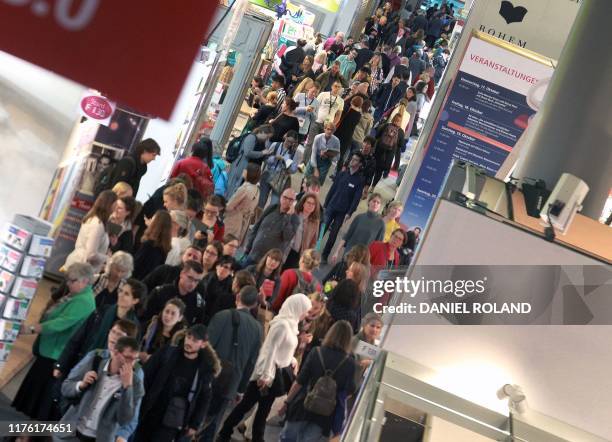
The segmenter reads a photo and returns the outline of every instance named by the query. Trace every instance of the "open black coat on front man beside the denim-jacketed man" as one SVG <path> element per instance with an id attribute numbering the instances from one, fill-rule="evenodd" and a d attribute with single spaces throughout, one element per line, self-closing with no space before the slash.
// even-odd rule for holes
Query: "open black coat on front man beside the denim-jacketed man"
<path id="1" fill-rule="evenodd" d="M 180 347 L 164 347 L 157 351 L 143 367 L 145 397 L 140 408 L 140 420 L 147 417 L 147 414 L 158 405 L 158 401 L 163 398 L 164 388 L 167 388 L 179 357 L 183 351 L 182 343 Z M 220 370 L 219 359 L 215 351 L 207 346 L 198 355 L 198 382 L 195 394 L 189 402 L 185 427 L 199 428 L 206 416 L 208 405 L 211 398 L 211 383 Z M 161 423 L 160 423 L 161 424 Z"/>

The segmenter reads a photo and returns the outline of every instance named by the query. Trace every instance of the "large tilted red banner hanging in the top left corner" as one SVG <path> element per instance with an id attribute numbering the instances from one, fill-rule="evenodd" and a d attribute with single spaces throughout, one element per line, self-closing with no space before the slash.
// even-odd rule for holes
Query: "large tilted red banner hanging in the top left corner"
<path id="1" fill-rule="evenodd" d="M 169 118 L 215 0 L 0 0 L 0 49 Z"/>

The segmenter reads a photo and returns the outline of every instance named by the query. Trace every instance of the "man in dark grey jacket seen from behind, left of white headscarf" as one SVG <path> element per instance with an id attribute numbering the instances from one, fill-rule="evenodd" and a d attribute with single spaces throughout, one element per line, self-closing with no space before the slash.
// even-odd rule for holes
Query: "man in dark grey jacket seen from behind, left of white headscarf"
<path id="1" fill-rule="evenodd" d="M 213 441 L 225 410 L 234 400 L 242 400 L 249 383 L 263 341 L 261 324 L 250 312 L 257 305 L 258 297 L 254 286 L 243 287 L 236 297 L 236 309 L 223 310 L 210 321 L 209 343 L 231 370 L 227 377 L 219 377 L 219 382 L 224 378 L 224 385 L 213 383 L 212 406 L 199 442 Z"/>

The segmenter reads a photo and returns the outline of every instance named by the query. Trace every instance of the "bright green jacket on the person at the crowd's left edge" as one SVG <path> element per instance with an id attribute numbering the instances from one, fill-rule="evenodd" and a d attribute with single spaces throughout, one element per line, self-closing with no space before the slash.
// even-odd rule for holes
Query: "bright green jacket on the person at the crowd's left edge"
<path id="1" fill-rule="evenodd" d="M 57 360 L 72 334 L 95 309 L 93 290 L 87 286 L 45 315 L 38 343 L 40 355 Z"/>

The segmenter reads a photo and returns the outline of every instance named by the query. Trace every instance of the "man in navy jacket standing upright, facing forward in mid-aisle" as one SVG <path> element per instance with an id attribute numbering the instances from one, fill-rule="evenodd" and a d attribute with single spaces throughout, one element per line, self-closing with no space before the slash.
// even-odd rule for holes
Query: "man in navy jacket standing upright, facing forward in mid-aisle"
<path id="1" fill-rule="evenodd" d="M 326 229 L 329 229 L 329 238 L 323 249 L 323 261 L 327 261 L 342 224 L 348 221 L 361 201 L 364 186 L 364 178 L 361 173 L 363 163 L 363 155 L 355 152 L 351 156 L 348 170 L 336 176 L 325 198 L 324 225 Z"/>

